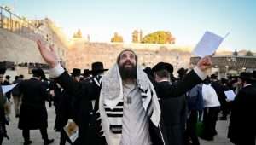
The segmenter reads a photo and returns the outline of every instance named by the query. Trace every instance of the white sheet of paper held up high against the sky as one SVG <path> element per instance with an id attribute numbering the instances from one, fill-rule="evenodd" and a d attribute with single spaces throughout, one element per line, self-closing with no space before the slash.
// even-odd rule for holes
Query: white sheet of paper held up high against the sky
<path id="1" fill-rule="evenodd" d="M 205 32 L 199 43 L 195 46 L 195 49 L 192 53 L 199 57 L 212 55 L 218 49 L 218 46 L 222 43 L 223 40 L 223 37 L 220 37 L 212 32 Z"/>

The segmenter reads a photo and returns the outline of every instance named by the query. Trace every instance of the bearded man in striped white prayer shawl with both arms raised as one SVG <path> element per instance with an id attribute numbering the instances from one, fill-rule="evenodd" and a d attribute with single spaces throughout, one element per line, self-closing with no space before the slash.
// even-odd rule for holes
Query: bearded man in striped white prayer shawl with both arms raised
<path id="1" fill-rule="evenodd" d="M 84 106 L 90 107 L 88 88 L 83 84 L 73 82 L 72 78 L 64 72 L 57 63 L 54 49 L 49 49 L 38 41 L 38 49 L 53 69 L 54 78 L 61 86 L 76 96 L 87 99 Z M 211 67 L 209 57 L 202 58 L 196 67 L 180 83 L 163 86 L 166 96 L 181 96 L 206 78 L 205 71 Z M 193 81 L 191 81 L 193 80 Z M 89 113 L 89 110 L 84 110 Z M 137 55 L 131 49 L 120 52 L 117 63 L 102 78 L 102 88 L 99 101 L 99 113 L 102 120 L 102 136 L 109 145 L 155 145 L 166 144 L 160 131 L 160 105 L 154 87 L 137 65 Z M 87 115 L 89 117 L 89 114 Z M 84 136 L 80 136 L 80 144 L 88 144 L 88 120 L 79 125 L 83 129 Z M 82 127 L 81 125 L 84 125 Z M 80 132 L 80 131 L 79 131 Z"/>

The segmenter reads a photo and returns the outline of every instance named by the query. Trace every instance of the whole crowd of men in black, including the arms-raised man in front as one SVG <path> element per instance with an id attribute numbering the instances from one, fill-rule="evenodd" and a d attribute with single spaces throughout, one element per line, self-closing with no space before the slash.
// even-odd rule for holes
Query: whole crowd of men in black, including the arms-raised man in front
<path id="1" fill-rule="evenodd" d="M 51 67 L 50 78 L 36 68 L 30 79 L 17 76 L 14 90 L 6 94 L 0 90 L 0 144 L 9 137 L 5 104 L 12 96 L 24 145 L 32 144 L 30 130 L 41 132 L 44 145 L 54 142 L 47 134 L 45 101 L 54 102 L 60 145 L 199 145 L 198 137 L 214 140 L 216 122 L 229 120 L 229 114 L 230 142 L 255 145 L 254 71 L 221 79 L 215 74 L 207 76 L 212 62 L 204 57 L 190 71 L 180 68 L 176 78 L 172 64 L 159 62 L 143 69 L 137 65 L 135 52 L 125 49 L 109 70 L 98 61 L 91 70 L 81 73 L 74 68 L 69 75 L 56 62 L 52 48 L 38 41 L 38 49 Z M 0 70 L 3 82 L 5 69 Z M 8 80 L 6 75 L 2 85 Z M 235 100 L 225 96 L 227 90 L 236 92 Z M 64 131 L 70 119 L 79 126 L 74 142 Z"/>

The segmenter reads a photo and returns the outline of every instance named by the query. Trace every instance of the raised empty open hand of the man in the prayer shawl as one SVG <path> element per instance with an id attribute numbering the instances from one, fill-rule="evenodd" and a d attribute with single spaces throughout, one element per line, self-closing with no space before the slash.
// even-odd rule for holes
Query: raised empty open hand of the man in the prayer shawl
<path id="1" fill-rule="evenodd" d="M 49 49 L 46 48 L 44 44 L 40 40 L 37 41 L 38 49 L 40 51 L 40 54 L 44 58 L 44 61 L 49 64 L 50 67 L 55 67 L 58 64 L 58 57 L 55 54 L 55 50 L 53 46 L 49 46 Z"/>

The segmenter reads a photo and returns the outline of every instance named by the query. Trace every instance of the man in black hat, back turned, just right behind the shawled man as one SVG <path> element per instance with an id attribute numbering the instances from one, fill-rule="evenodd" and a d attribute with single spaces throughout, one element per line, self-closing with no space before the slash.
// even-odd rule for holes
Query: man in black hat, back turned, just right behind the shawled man
<path id="1" fill-rule="evenodd" d="M 166 62 L 159 62 L 152 68 L 154 80 L 157 84 L 172 85 L 171 74 L 173 67 Z M 157 90 L 160 99 L 161 119 L 163 133 L 166 135 L 166 145 L 183 145 L 185 120 L 186 120 L 186 101 L 185 96 L 168 98 L 165 92 L 168 90 Z"/>

